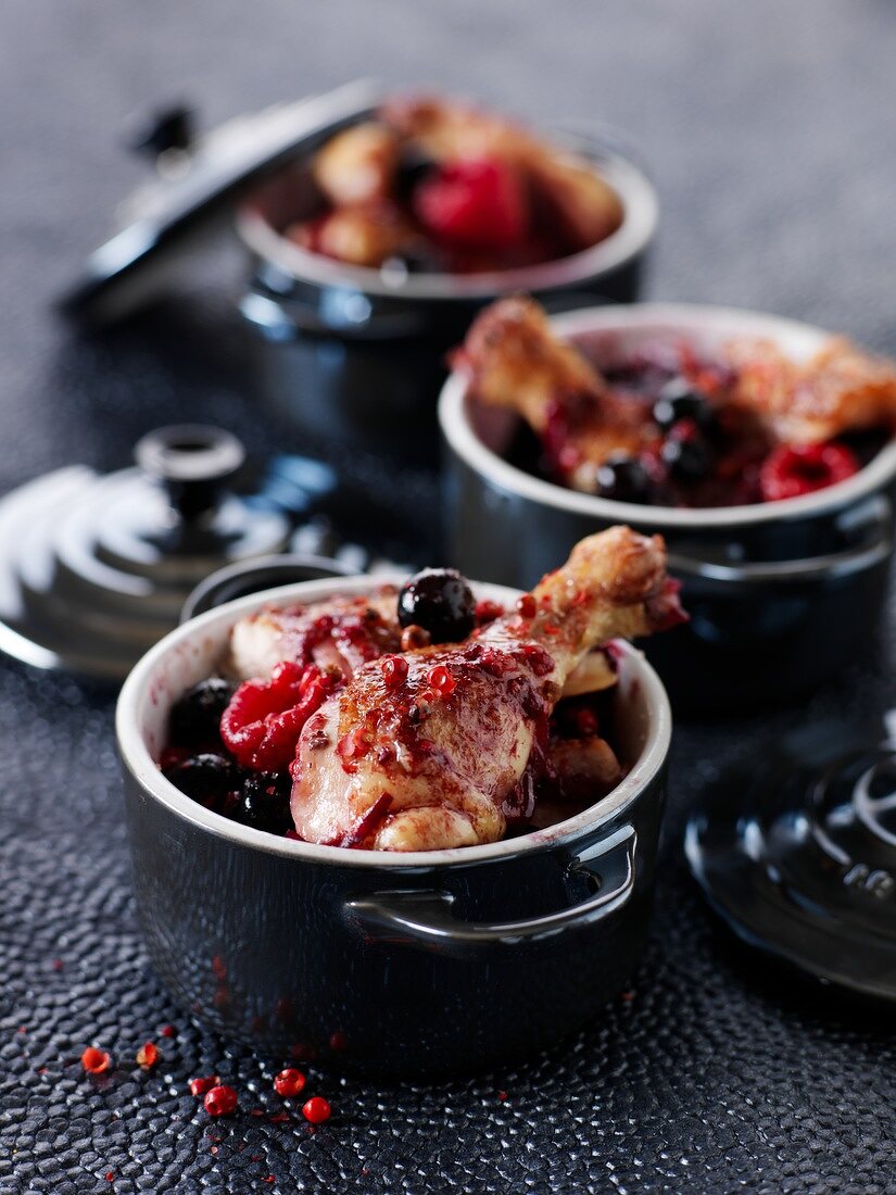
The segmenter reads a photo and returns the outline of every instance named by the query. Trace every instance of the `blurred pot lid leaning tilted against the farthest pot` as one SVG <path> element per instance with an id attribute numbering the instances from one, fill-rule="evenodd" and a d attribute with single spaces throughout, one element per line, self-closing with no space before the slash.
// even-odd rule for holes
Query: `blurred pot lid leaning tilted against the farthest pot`
<path id="1" fill-rule="evenodd" d="M 87 259 L 61 296 L 61 310 L 91 324 L 135 311 L 217 223 L 229 220 L 252 184 L 372 114 L 381 97 L 374 84 L 352 82 L 238 117 L 195 141 L 186 110 L 160 114 L 136 142 L 157 155 L 159 178 L 124 204 L 118 231 Z"/>

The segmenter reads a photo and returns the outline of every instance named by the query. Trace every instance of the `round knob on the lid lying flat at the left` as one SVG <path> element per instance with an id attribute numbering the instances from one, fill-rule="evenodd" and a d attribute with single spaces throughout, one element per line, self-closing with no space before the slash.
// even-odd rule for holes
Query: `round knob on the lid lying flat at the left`
<path id="1" fill-rule="evenodd" d="M 182 519 L 192 521 L 217 507 L 227 482 L 243 467 L 246 451 L 222 428 L 184 423 L 149 431 L 137 441 L 134 459 L 165 486 Z"/>

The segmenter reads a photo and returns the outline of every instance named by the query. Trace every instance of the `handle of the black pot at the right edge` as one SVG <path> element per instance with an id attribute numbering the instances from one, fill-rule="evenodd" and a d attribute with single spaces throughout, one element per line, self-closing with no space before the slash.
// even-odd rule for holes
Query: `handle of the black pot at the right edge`
<path id="1" fill-rule="evenodd" d="M 745 562 L 728 564 L 704 560 L 685 552 L 673 551 L 668 556 L 669 571 L 682 577 L 701 581 L 734 582 L 738 584 L 786 584 L 830 580 L 864 572 L 885 560 L 892 552 L 892 507 L 883 495 L 861 511 L 859 529 L 865 534 L 861 541 L 840 552 L 824 556 L 808 556 L 799 560 Z M 855 523 L 848 528 L 854 532 Z"/>

